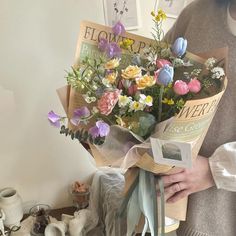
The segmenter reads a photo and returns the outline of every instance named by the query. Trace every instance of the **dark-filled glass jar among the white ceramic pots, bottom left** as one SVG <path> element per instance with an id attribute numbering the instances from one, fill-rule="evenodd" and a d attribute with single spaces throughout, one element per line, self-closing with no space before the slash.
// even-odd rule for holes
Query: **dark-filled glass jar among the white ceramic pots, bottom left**
<path id="1" fill-rule="evenodd" d="M 29 214 L 33 217 L 33 226 L 31 234 L 34 236 L 43 236 L 45 228 L 50 223 L 49 212 L 51 207 L 46 204 L 38 204 L 32 207 Z"/>

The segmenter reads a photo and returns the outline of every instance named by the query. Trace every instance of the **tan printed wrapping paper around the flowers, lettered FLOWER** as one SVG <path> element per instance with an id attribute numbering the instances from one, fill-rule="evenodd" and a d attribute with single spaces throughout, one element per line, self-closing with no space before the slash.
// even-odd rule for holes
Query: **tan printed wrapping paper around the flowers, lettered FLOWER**
<path id="1" fill-rule="evenodd" d="M 75 66 L 86 56 L 96 57 L 98 55 L 96 45 L 100 36 L 105 36 L 109 41 L 119 41 L 124 38 L 122 36 L 119 36 L 118 39 L 115 38 L 109 27 L 83 22 L 80 27 Z M 152 42 L 150 39 L 129 33 L 126 34 L 125 38 L 133 39 L 132 51 L 141 54 L 142 50 Z M 215 58 L 221 59 L 226 58 L 226 55 L 227 51 L 225 49 L 217 49 L 214 52 L 203 53 L 201 57 L 209 58 L 214 56 Z M 187 57 L 200 64 L 204 62 L 202 58 L 190 53 L 188 53 Z M 125 59 L 127 61 L 130 60 L 128 55 L 126 55 Z M 189 142 L 192 146 L 192 158 L 195 158 L 214 117 L 226 85 L 227 80 L 225 79 L 222 91 L 215 96 L 187 101 L 178 116 L 156 126 L 152 137 Z M 69 118 L 73 115 L 74 109 L 85 104 L 81 95 L 73 91 L 73 89 L 68 89 L 68 87 L 59 89 L 58 95 Z M 71 124 L 69 124 L 69 127 L 72 129 L 75 128 Z M 192 128 L 189 129 L 188 127 Z M 109 137 L 107 137 L 101 147 L 91 146 L 92 154 L 99 166 L 119 166 L 131 172 L 130 175 L 126 175 L 129 176 L 126 178 L 126 190 L 129 189 L 129 184 L 132 184 L 132 174 L 134 173 L 131 167 L 137 166 L 154 174 L 169 174 L 176 171 L 176 168 L 172 168 L 171 166 L 155 163 L 150 155 L 150 148 L 151 144 L 149 140 L 143 141 L 130 131 L 118 126 L 112 126 Z M 174 219 L 185 220 L 186 209 L 187 199 L 182 199 L 175 204 L 166 204 L 166 215 Z"/>

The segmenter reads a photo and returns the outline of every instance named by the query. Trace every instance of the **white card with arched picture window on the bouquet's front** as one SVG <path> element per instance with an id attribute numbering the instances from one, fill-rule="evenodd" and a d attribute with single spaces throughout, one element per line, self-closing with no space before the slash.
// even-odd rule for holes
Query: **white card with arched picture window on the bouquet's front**
<path id="1" fill-rule="evenodd" d="M 154 161 L 158 164 L 192 167 L 192 146 L 190 143 L 151 138 Z"/>

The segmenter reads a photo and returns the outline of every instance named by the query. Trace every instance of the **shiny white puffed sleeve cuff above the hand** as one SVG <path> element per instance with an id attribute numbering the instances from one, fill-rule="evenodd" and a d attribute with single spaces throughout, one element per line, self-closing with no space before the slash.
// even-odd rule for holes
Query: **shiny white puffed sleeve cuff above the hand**
<path id="1" fill-rule="evenodd" d="M 209 163 L 217 188 L 236 192 L 236 142 L 217 148 Z"/>

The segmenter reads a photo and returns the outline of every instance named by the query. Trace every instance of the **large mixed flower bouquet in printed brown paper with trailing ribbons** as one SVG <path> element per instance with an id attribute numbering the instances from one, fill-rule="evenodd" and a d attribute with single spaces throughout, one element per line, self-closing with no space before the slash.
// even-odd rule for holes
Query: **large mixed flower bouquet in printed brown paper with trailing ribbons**
<path id="1" fill-rule="evenodd" d="M 149 201 L 149 206 L 136 205 L 137 216 L 142 212 L 151 234 L 157 235 L 154 174 L 173 169 L 179 161 L 167 162 L 169 165 L 165 158 L 164 162 L 157 161 L 157 142 L 188 143 L 190 155 L 186 158 L 191 163 L 224 92 L 226 78 L 223 60 L 188 53 L 184 38 L 169 45 L 163 40 L 165 13 L 152 12 L 152 17 L 154 39 L 146 41 L 126 33 L 121 22 L 112 29 L 86 23 L 78 43 L 77 61 L 66 76 L 67 102 L 62 102 L 67 116 L 50 111 L 48 119 L 61 128 L 60 133 L 88 143 L 95 158 L 102 157 L 109 165 L 126 170 L 133 166 L 143 170 L 135 177 L 138 181 L 132 182 L 123 207 L 133 199 L 131 209 L 137 196 Z M 187 126 L 189 130 L 183 130 Z M 137 220 L 128 226 L 130 235 Z"/>

